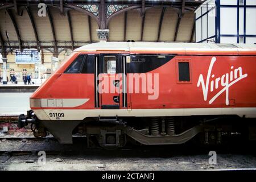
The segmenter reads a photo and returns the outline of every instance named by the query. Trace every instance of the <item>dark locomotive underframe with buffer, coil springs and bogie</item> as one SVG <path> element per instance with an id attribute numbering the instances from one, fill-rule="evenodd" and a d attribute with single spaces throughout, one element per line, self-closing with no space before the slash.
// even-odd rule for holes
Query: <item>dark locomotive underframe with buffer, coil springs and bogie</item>
<path id="1" fill-rule="evenodd" d="M 88 147 L 120 148 L 129 142 L 144 145 L 182 144 L 195 137 L 200 143 L 225 143 L 231 135 L 256 140 L 255 118 L 237 115 L 187 117 L 97 117 L 83 121 L 40 121 L 30 110 L 19 116 L 19 127 L 31 123 L 35 137 L 51 133 L 60 143 L 72 143 L 74 134 L 85 135 Z"/>

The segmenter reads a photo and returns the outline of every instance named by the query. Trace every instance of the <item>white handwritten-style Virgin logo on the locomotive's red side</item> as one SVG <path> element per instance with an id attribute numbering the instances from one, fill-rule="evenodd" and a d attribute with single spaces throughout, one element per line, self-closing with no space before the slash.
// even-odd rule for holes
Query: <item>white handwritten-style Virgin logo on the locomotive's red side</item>
<path id="1" fill-rule="evenodd" d="M 208 93 L 214 92 L 214 90 L 217 90 L 218 87 L 221 85 L 223 88 L 216 93 L 212 98 L 209 99 L 209 104 L 212 104 L 218 96 L 220 96 L 222 93 L 226 93 L 226 105 L 229 105 L 229 88 L 230 86 L 236 84 L 236 82 L 242 80 L 243 78 L 247 77 L 247 74 L 242 73 L 242 67 L 234 69 L 234 67 L 230 67 L 230 72 L 222 75 L 221 77 L 215 78 L 215 75 L 212 73 L 213 65 L 216 61 L 216 57 L 212 57 L 212 60 L 210 61 L 210 66 L 207 73 L 207 78 L 205 82 L 205 78 L 202 74 L 200 74 L 197 87 L 200 85 L 202 86 L 203 95 L 204 95 L 204 101 L 208 100 Z"/>

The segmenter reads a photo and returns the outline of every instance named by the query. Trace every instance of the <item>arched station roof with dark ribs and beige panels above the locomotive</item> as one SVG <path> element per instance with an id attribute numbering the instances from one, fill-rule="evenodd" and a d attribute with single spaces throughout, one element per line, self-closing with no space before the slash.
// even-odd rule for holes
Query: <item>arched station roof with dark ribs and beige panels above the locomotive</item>
<path id="1" fill-rule="evenodd" d="M 47 6 L 42 17 L 38 16 L 39 2 Z M 102 2 L 106 7 L 110 42 L 195 40 L 193 11 L 202 1 L 6 0 L 0 3 L 0 49 L 10 52 L 31 47 L 59 53 L 98 42 L 96 29 L 101 28 Z"/>

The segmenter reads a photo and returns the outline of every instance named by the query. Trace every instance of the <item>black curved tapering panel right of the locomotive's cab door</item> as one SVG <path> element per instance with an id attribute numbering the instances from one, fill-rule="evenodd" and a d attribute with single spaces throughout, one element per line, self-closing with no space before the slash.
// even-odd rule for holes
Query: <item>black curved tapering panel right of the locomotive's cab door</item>
<path id="1" fill-rule="evenodd" d="M 131 62 L 127 65 L 128 73 L 146 73 L 161 67 L 174 56 L 170 55 L 131 55 Z"/>

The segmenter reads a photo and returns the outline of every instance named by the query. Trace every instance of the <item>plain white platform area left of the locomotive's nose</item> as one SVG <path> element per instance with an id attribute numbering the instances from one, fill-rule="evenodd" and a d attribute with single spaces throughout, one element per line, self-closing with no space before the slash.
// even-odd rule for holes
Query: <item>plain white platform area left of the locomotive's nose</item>
<path id="1" fill-rule="evenodd" d="M 28 93 L 0 93 L 0 116 L 26 114 L 30 110 Z"/>

